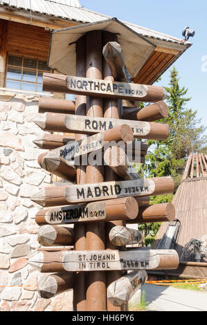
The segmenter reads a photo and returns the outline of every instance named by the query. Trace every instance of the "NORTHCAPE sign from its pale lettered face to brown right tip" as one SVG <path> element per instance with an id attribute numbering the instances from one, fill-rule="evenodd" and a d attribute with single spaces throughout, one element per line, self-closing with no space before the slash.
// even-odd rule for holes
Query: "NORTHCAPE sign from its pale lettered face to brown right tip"
<path id="1" fill-rule="evenodd" d="M 143 102 L 158 102 L 168 95 L 160 86 L 145 84 L 129 84 L 127 82 L 110 82 L 106 80 L 91 80 L 89 78 L 66 77 L 69 93 L 92 97 L 107 97 L 123 100 L 141 100 Z"/>

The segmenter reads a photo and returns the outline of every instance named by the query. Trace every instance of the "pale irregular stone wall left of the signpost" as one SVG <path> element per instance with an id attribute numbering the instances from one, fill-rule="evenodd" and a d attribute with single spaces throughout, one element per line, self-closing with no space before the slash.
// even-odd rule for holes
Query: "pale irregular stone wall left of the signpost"
<path id="1" fill-rule="evenodd" d="M 39 247 L 35 214 L 42 208 L 30 196 L 51 183 L 37 163 L 44 152 L 33 143 L 43 132 L 32 122 L 37 114 L 38 97 L 0 93 L 0 310 L 5 311 L 72 308 L 71 290 L 39 297 L 38 272 L 26 259 Z"/>

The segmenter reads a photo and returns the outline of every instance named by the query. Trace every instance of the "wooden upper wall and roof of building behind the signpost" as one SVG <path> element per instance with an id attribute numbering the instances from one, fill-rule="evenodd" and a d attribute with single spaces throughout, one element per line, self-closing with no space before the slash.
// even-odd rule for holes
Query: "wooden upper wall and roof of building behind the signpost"
<path id="1" fill-rule="evenodd" d="M 109 17 L 81 8 L 78 0 L 0 1 L 1 90 L 40 95 L 42 73 L 50 70 L 46 65 L 50 31 L 106 19 Z M 191 45 L 161 32 L 125 24 L 152 44 L 148 53 L 137 53 L 142 64 L 133 80 L 136 83 L 153 84 Z"/>

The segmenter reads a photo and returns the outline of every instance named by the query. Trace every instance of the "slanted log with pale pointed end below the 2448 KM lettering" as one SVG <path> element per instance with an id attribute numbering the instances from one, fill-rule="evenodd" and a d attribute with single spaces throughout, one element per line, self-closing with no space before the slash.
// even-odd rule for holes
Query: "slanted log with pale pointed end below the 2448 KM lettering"
<path id="1" fill-rule="evenodd" d="M 122 306 L 145 284 L 145 281 L 147 281 L 147 272 L 145 270 L 129 272 L 109 285 L 107 298 L 112 305 Z"/>

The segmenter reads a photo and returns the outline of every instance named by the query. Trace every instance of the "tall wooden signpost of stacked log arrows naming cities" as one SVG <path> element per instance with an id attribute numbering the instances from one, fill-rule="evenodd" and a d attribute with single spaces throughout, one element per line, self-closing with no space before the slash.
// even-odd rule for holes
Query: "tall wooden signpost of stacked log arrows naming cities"
<path id="1" fill-rule="evenodd" d="M 150 196 L 172 194 L 174 181 L 141 178 L 131 165 L 144 163 L 147 154 L 147 144 L 134 138 L 168 138 L 168 125 L 153 122 L 168 115 L 167 94 L 162 87 L 131 82 L 117 41 L 105 30 L 80 37 L 74 45 L 76 76 L 43 75 L 44 91 L 74 94 L 75 102 L 40 98 L 39 113 L 45 114 L 34 120 L 44 131 L 74 134 L 45 134 L 34 141 L 49 149 L 39 165 L 68 183 L 39 189 L 31 198 L 46 208 L 35 216 L 42 247 L 28 263 L 48 273 L 38 280 L 41 297 L 73 289 L 77 311 L 125 311 L 147 279 L 145 270 L 179 264 L 174 250 L 125 248 L 142 240 L 126 222 L 174 218 L 171 203 L 150 205 Z M 141 101 L 153 104 L 140 109 Z"/>

